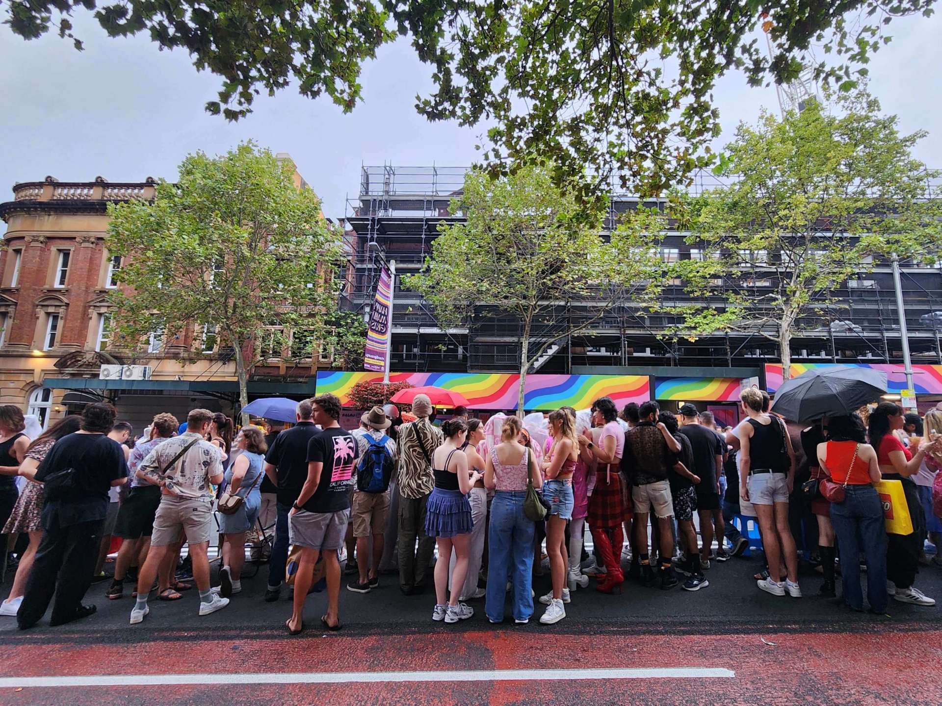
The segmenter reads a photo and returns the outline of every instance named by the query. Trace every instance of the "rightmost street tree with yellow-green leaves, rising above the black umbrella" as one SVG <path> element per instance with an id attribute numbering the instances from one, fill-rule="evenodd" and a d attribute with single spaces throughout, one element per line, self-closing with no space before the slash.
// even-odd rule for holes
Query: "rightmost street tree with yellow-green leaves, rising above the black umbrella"
<path id="1" fill-rule="evenodd" d="M 730 185 L 682 204 L 688 241 L 704 258 L 675 271 L 698 297 L 722 297 L 688 312 L 688 336 L 763 333 L 788 364 L 799 319 L 833 313 L 834 292 L 873 259 L 939 257 L 942 209 L 927 199 L 938 174 L 911 155 L 925 133 L 901 136 L 897 124 L 855 90 L 784 120 L 763 113 L 755 126 L 739 125 L 720 170 Z"/>

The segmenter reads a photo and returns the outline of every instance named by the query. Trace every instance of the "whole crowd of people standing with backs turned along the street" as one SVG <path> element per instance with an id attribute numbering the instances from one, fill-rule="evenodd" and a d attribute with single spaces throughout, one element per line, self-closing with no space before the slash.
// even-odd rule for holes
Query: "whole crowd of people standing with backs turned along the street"
<path id="1" fill-rule="evenodd" d="M 942 550 L 933 489 L 942 409 L 923 420 L 884 402 L 800 429 L 770 412 L 768 393 L 740 396 L 742 421 L 723 428 L 693 405 L 674 415 L 653 401 L 619 410 L 603 397 L 588 413 L 546 415 L 544 442 L 513 414 L 485 425 L 459 408 L 436 424 L 422 394 L 408 420 L 393 405 L 374 407 L 352 431 L 340 425 L 339 399 L 322 394 L 268 435 L 254 425 L 235 433 L 227 416 L 193 409 L 184 424 L 155 415 L 137 441 L 105 403 L 35 439 L 18 407 L 0 406 L 0 521 L 18 559 L 0 616 L 29 628 L 52 602 L 51 624 L 84 618 L 95 606 L 83 599 L 102 578 L 107 599 L 131 588 L 131 624 L 150 614 L 152 596 L 178 601 L 193 587 L 199 615 L 209 615 L 242 591 L 247 538 L 273 527 L 265 601 L 291 585 L 289 634 L 303 631 L 317 584 L 327 591 L 320 622 L 342 628 L 345 573 L 358 594 L 383 573 L 398 574 L 404 595 L 431 583 L 436 621 L 471 618 L 469 603 L 483 599 L 492 623 L 508 606 L 527 623 L 540 603 L 539 621 L 553 624 L 593 579 L 604 594 L 621 593 L 625 578 L 707 588 L 712 565 L 750 547 L 740 532 L 749 518 L 765 558 L 762 591 L 801 598 L 804 554 L 819 567 L 818 593 L 853 610 L 885 614 L 889 598 L 934 605 L 914 584 L 920 566 L 942 565 L 925 554 L 927 538 Z M 886 532 L 881 480 L 900 481 L 910 534 Z M 106 576 L 112 537 L 121 544 Z M 537 597 L 544 557 L 551 589 Z"/>

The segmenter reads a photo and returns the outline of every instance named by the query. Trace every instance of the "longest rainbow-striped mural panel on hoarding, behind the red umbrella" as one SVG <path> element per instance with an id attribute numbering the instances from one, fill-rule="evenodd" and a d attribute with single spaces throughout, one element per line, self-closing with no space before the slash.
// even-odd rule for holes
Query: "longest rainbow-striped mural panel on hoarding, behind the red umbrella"
<path id="1" fill-rule="evenodd" d="M 317 393 L 332 393 L 347 405 L 349 389 L 368 380 L 382 382 L 382 373 L 322 371 L 317 373 Z M 393 373 L 390 382 L 408 382 L 415 387 L 435 387 L 462 393 L 471 409 L 516 409 L 519 375 L 509 373 Z M 640 375 L 530 375 L 524 392 L 525 408 L 558 409 L 569 405 L 590 407 L 608 395 L 616 405 L 650 399 L 647 376 Z"/>

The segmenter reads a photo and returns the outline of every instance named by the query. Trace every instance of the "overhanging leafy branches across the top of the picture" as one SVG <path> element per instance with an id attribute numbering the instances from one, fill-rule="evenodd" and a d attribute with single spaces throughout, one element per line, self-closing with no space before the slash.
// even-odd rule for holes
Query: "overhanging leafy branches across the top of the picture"
<path id="1" fill-rule="evenodd" d="M 709 162 L 719 132 L 711 91 L 739 70 L 750 85 L 788 82 L 812 42 L 832 62 L 817 79 L 852 89 L 894 17 L 933 12 L 934 0 L 827 0 L 760 4 L 690 0 L 0 0 L 26 39 L 94 11 L 112 37 L 146 32 L 180 48 L 221 79 L 213 114 L 237 120 L 254 96 L 297 85 L 326 92 L 344 111 L 362 98 L 360 72 L 383 44 L 407 36 L 432 68 L 435 90 L 417 97 L 430 120 L 493 124 L 484 155 L 493 174 L 508 164 L 552 162 L 556 185 L 584 169 L 585 193 L 607 191 L 612 173 L 642 194 L 680 184 Z M 771 59 L 765 41 L 771 40 Z M 703 152 L 702 152 L 703 150 Z"/>

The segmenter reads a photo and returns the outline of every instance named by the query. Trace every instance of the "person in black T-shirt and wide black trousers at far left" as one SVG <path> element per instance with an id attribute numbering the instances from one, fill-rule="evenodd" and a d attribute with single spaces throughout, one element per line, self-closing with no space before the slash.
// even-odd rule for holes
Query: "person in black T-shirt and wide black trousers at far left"
<path id="1" fill-rule="evenodd" d="M 111 405 L 87 405 L 82 411 L 81 428 L 53 444 L 36 471 L 34 479 L 40 483 L 61 479 L 59 473 L 63 472 L 65 482 L 45 489 L 45 535 L 16 614 L 20 630 L 39 622 L 54 593 L 50 625 L 86 618 L 96 610 L 94 605 L 82 605 L 82 599 L 95 570 L 108 490 L 127 480 L 121 445 L 107 438 L 114 423 L 115 409 Z M 68 487 L 63 489 L 63 485 Z"/>

